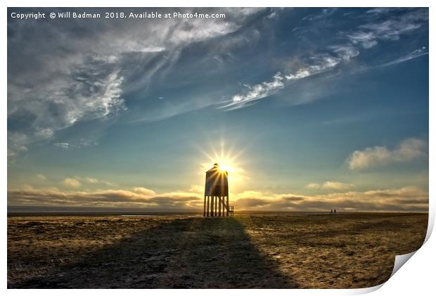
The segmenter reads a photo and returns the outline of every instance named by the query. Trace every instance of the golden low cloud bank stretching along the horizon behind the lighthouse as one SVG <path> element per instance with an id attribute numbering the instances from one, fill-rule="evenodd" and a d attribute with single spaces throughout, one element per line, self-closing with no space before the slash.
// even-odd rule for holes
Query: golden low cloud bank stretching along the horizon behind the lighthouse
<path id="1" fill-rule="evenodd" d="M 335 187 L 335 186 L 333 186 Z M 417 187 L 372 191 L 347 191 L 323 195 L 269 194 L 243 191 L 231 195 L 241 210 L 263 211 L 428 211 L 428 193 Z M 203 195 L 193 191 L 155 193 L 148 188 L 132 190 L 59 191 L 29 186 L 8 191 L 8 205 L 117 207 L 137 210 L 203 210 Z"/>

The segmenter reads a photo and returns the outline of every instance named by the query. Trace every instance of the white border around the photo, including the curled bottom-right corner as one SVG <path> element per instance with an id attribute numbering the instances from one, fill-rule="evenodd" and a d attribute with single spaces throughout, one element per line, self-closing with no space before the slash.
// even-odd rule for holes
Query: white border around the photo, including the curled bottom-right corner
<path id="1" fill-rule="evenodd" d="M 139 1 L 139 0 L 123 0 L 123 1 L 93 1 L 93 0 L 64 0 L 64 1 L 54 1 L 54 0 L 40 0 L 40 1 L 30 1 L 30 0 L 6 0 L 2 1 L 3 6 L 1 6 L 1 13 L 4 18 L 3 22 L 3 30 L 1 30 L 1 55 L 3 56 L 4 63 L 3 65 L 6 65 L 7 63 L 7 55 L 6 55 L 6 34 L 7 34 L 7 6 L 11 7 L 253 7 L 253 6 L 268 6 L 268 7 L 287 7 L 287 6 L 293 6 L 293 7 L 430 7 L 430 50 L 432 50 L 433 46 L 435 45 L 434 37 L 432 37 L 432 33 L 435 32 L 434 22 L 432 21 L 435 18 L 435 1 L 430 0 L 397 0 L 397 1 L 390 1 L 390 0 L 366 0 L 366 1 L 344 1 L 344 0 L 332 0 L 332 1 L 321 1 L 321 0 L 304 0 L 304 1 L 284 1 L 284 0 L 269 0 L 269 1 L 249 1 L 249 0 L 213 0 L 213 1 L 207 1 L 207 3 L 203 1 L 198 0 L 184 0 L 184 1 L 174 1 L 174 0 L 159 0 L 155 2 L 151 1 Z M 435 81 L 434 80 L 434 71 L 435 71 L 435 65 L 433 63 L 432 55 L 429 56 L 430 59 L 430 82 Z M 4 119 L 1 121 L 1 136 L 4 141 L 3 145 L 1 146 L 1 153 L 3 157 L 1 157 L 1 188 L 2 192 L 4 193 L 4 211 L 3 213 L 3 219 L 1 219 L 2 229 L 3 231 L 3 244 L 1 245 L 1 251 L 2 251 L 2 261 L 4 263 L 4 269 L 2 269 L 1 276 L 3 279 L 3 288 L 6 289 L 6 233 L 7 233 L 7 224 L 6 224 L 6 191 L 7 191 L 7 182 L 6 182 L 6 176 L 7 176 L 7 158 L 6 158 L 6 139 L 7 139 L 7 108 L 6 108 L 6 96 L 7 96 L 7 80 L 6 80 L 6 74 L 7 69 L 6 67 L 3 67 L 3 70 L 1 71 L 1 81 L 3 82 L 1 84 L 1 89 L 3 94 L 2 96 L 2 112 Z M 435 98 L 434 94 L 434 87 L 430 83 L 430 98 Z M 430 134 L 429 134 L 429 145 L 430 145 L 430 151 L 435 150 L 435 103 L 430 101 L 429 106 L 429 118 L 430 118 Z M 433 169 L 435 168 L 435 160 L 434 157 L 432 157 L 432 153 L 430 153 L 430 174 L 429 179 L 435 180 L 435 174 L 433 172 Z M 415 255 L 413 255 L 413 259 L 410 262 L 406 263 L 406 266 L 402 269 L 399 269 L 399 271 L 393 276 L 387 283 L 383 285 L 382 289 L 377 290 L 380 288 L 380 286 L 375 288 L 365 288 L 365 289 L 354 289 L 354 290 L 250 290 L 250 294 L 253 295 L 260 295 L 264 294 L 265 292 L 274 292 L 276 295 L 288 295 L 288 293 L 292 293 L 295 295 L 355 295 L 355 294 L 362 294 L 366 292 L 371 292 L 373 290 L 377 290 L 375 294 L 378 295 L 392 295 L 392 294 L 398 294 L 398 295 L 410 295 L 411 293 L 415 293 L 417 295 L 421 294 L 430 294 L 430 291 L 434 291 L 435 285 L 433 284 L 434 281 L 434 271 L 435 271 L 435 255 L 432 252 L 432 250 L 435 250 L 435 239 L 430 238 L 430 233 L 432 231 L 434 220 L 435 220 L 435 201 L 434 201 L 434 193 L 435 193 L 435 186 L 430 182 L 430 212 L 429 212 L 429 228 L 427 237 L 425 238 L 425 245 L 421 247 L 418 252 L 416 252 Z M 430 238 L 430 240 L 429 240 Z M 32 293 L 34 295 L 46 295 L 46 294 L 54 294 L 59 293 L 57 290 L 7 290 L 7 292 L 11 295 L 21 295 L 21 294 L 27 294 Z M 63 290 L 62 293 L 65 295 L 75 295 L 78 291 L 76 290 Z M 167 295 L 167 293 L 177 293 L 180 295 L 203 295 L 204 293 L 211 294 L 211 295 L 223 295 L 223 294 L 237 294 L 245 291 L 241 290 L 147 290 L 147 293 L 151 293 L 153 295 Z M 141 294 L 143 295 L 143 290 L 80 290 L 80 293 L 84 294 L 91 294 L 91 293 L 104 293 L 105 295 L 119 295 L 120 293 L 129 293 L 129 294 Z"/>

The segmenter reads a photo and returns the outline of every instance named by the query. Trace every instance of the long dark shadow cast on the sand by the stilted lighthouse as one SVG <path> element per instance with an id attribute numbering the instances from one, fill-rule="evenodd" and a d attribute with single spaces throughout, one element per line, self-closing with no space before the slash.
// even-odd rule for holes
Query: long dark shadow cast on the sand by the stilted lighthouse
<path id="1" fill-rule="evenodd" d="M 144 221 L 146 223 L 146 221 Z M 9 288 L 297 288 L 234 218 L 164 221 Z"/>

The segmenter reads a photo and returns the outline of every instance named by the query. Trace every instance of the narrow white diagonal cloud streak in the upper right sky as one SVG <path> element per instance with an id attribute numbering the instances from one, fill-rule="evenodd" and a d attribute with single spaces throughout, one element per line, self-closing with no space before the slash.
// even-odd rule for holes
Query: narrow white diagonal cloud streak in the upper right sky
<path id="1" fill-rule="evenodd" d="M 334 10 L 324 10 L 319 15 L 310 16 L 309 19 L 327 18 L 332 13 L 334 13 Z M 373 11 L 371 13 L 382 13 L 382 11 Z M 376 46 L 380 40 L 399 40 L 402 34 L 417 30 L 427 21 L 428 12 L 418 10 L 406 12 L 400 17 L 392 17 L 390 20 L 383 22 L 367 22 L 364 25 L 360 25 L 356 30 L 345 33 L 345 39 L 347 39 L 346 43 L 328 46 L 325 49 L 325 53 L 310 56 L 307 59 L 307 66 L 299 67 L 293 72 L 280 70 L 276 72 L 271 79 L 260 82 L 259 84 L 252 86 L 244 84 L 247 85 L 248 89 L 233 95 L 231 100 L 224 102 L 224 105 L 220 108 L 234 110 L 251 105 L 253 101 L 267 98 L 276 94 L 277 91 L 285 89 L 290 85 L 290 82 L 333 70 L 342 63 L 350 62 L 352 58 L 359 56 L 359 47 L 367 50 Z M 343 34 L 343 32 L 338 33 Z M 402 63 L 425 54 L 428 53 L 413 53 L 409 56 L 385 63 L 383 66 Z"/>

